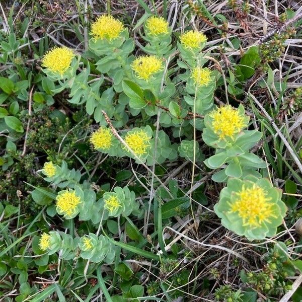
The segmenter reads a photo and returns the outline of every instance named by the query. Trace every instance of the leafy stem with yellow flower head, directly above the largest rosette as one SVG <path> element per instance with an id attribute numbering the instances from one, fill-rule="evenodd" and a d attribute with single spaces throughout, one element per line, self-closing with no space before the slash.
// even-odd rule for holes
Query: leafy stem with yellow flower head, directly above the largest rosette
<path id="1" fill-rule="evenodd" d="M 261 177 L 256 170 L 266 168 L 266 163 L 257 155 L 249 153 L 249 150 L 262 134 L 257 130 L 244 130 L 248 122 L 249 117 L 245 115 L 242 105 L 238 109 L 226 105 L 206 114 L 202 139 L 207 145 L 216 148 L 216 152 L 204 164 L 210 169 L 228 164 L 212 176 L 214 181 L 224 182 L 229 177 L 243 178 L 250 174 Z"/>

